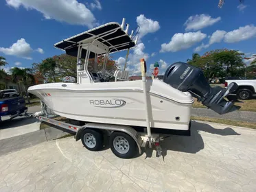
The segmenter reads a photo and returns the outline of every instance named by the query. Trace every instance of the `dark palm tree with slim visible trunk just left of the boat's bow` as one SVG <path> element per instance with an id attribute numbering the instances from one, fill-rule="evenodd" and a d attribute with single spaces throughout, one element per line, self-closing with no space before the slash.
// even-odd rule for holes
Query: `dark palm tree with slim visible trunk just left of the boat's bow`
<path id="1" fill-rule="evenodd" d="M 30 104 L 30 98 L 28 97 L 27 88 L 29 84 L 34 84 L 35 79 L 32 75 L 32 69 L 20 69 L 19 67 L 14 67 L 11 69 L 12 73 L 12 82 L 19 82 L 18 77 L 21 77 L 21 82 L 25 86 L 25 92 L 27 97 L 27 103 Z"/>

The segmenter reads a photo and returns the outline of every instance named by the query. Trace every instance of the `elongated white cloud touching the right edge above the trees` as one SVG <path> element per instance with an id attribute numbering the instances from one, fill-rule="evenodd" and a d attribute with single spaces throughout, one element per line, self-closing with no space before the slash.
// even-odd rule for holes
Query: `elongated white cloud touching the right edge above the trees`
<path id="1" fill-rule="evenodd" d="M 256 36 L 256 27 L 254 25 L 246 25 L 239 27 L 231 32 L 226 33 L 224 36 L 224 42 L 235 43 L 242 40 L 247 40 Z"/>

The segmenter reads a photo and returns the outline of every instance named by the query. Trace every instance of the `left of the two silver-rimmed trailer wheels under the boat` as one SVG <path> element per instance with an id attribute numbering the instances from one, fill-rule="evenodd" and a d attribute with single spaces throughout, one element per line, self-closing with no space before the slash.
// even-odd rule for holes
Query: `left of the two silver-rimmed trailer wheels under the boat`
<path id="1" fill-rule="evenodd" d="M 103 147 L 103 135 L 98 130 L 84 129 L 81 140 L 82 145 L 89 151 L 97 152 Z"/>

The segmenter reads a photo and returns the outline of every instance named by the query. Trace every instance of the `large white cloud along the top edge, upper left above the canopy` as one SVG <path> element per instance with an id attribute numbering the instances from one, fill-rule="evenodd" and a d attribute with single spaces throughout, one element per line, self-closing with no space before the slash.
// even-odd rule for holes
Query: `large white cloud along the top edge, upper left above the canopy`
<path id="1" fill-rule="evenodd" d="M 93 27 L 95 17 L 83 3 L 77 0 L 5 0 L 13 8 L 23 6 L 27 10 L 41 12 L 45 19 L 55 19 L 74 25 Z"/>

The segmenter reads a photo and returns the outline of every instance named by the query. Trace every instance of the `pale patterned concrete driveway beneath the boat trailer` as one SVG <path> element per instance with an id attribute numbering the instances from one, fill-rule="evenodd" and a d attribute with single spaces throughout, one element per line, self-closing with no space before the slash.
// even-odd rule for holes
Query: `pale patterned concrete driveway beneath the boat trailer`
<path id="1" fill-rule="evenodd" d="M 0 153 L 0 191 L 255 191 L 255 130 L 202 122 L 191 130 L 162 143 L 164 158 L 89 152 L 73 137 Z"/>

